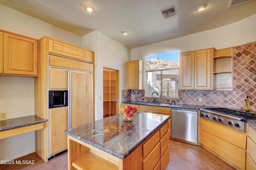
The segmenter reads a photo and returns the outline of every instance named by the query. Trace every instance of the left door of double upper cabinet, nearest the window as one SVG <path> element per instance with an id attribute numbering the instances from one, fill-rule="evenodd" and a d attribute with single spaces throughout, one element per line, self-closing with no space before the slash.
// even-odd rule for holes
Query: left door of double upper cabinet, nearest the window
<path id="1" fill-rule="evenodd" d="M 194 89 L 194 52 L 180 53 L 180 89 Z"/>

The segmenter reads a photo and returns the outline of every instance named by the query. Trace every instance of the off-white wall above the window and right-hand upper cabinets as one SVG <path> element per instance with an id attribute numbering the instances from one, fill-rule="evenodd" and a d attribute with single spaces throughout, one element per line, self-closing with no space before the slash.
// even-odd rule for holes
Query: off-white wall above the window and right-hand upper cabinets
<path id="1" fill-rule="evenodd" d="M 147 54 L 174 49 L 186 52 L 211 47 L 216 49 L 234 47 L 256 41 L 255 30 L 256 14 L 220 28 L 134 48 L 131 50 L 131 60 L 145 61 Z M 145 77 L 145 73 L 143 76 Z"/>

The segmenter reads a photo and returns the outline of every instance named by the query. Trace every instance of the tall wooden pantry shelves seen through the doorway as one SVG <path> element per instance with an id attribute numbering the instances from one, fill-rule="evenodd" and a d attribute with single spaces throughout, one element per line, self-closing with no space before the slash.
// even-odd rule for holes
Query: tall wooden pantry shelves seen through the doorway
<path id="1" fill-rule="evenodd" d="M 118 96 L 117 71 L 112 69 L 103 69 L 103 116 L 117 114 L 117 96 Z"/>

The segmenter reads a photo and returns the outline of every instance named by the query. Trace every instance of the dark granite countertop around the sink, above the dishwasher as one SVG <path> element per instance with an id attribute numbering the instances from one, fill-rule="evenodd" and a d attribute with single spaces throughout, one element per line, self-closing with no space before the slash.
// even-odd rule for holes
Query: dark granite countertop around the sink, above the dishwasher
<path id="1" fill-rule="evenodd" d="M 123 101 L 122 103 L 127 103 L 127 104 L 134 104 L 134 105 L 147 105 L 147 106 L 152 106 L 145 104 L 145 101 Z M 203 105 L 186 105 L 186 104 L 174 104 L 170 106 L 164 106 L 164 105 L 154 105 L 156 107 L 169 107 L 169 108 L 180 108 L 180 109 L 196 109 L 200 110 L 206 106 Z"/>

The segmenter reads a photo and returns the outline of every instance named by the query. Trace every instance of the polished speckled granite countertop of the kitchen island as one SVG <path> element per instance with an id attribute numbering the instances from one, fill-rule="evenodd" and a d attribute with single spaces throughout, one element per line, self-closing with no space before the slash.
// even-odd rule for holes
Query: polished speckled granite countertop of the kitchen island
<path id="1" fill-rule="evenodd" d="M 166 115 L 138 112 L 134 121 L 128 123 L 118 114 L 68 129 L 65 133 L 124 159 L 169 118 L 170 116 Z"/>

